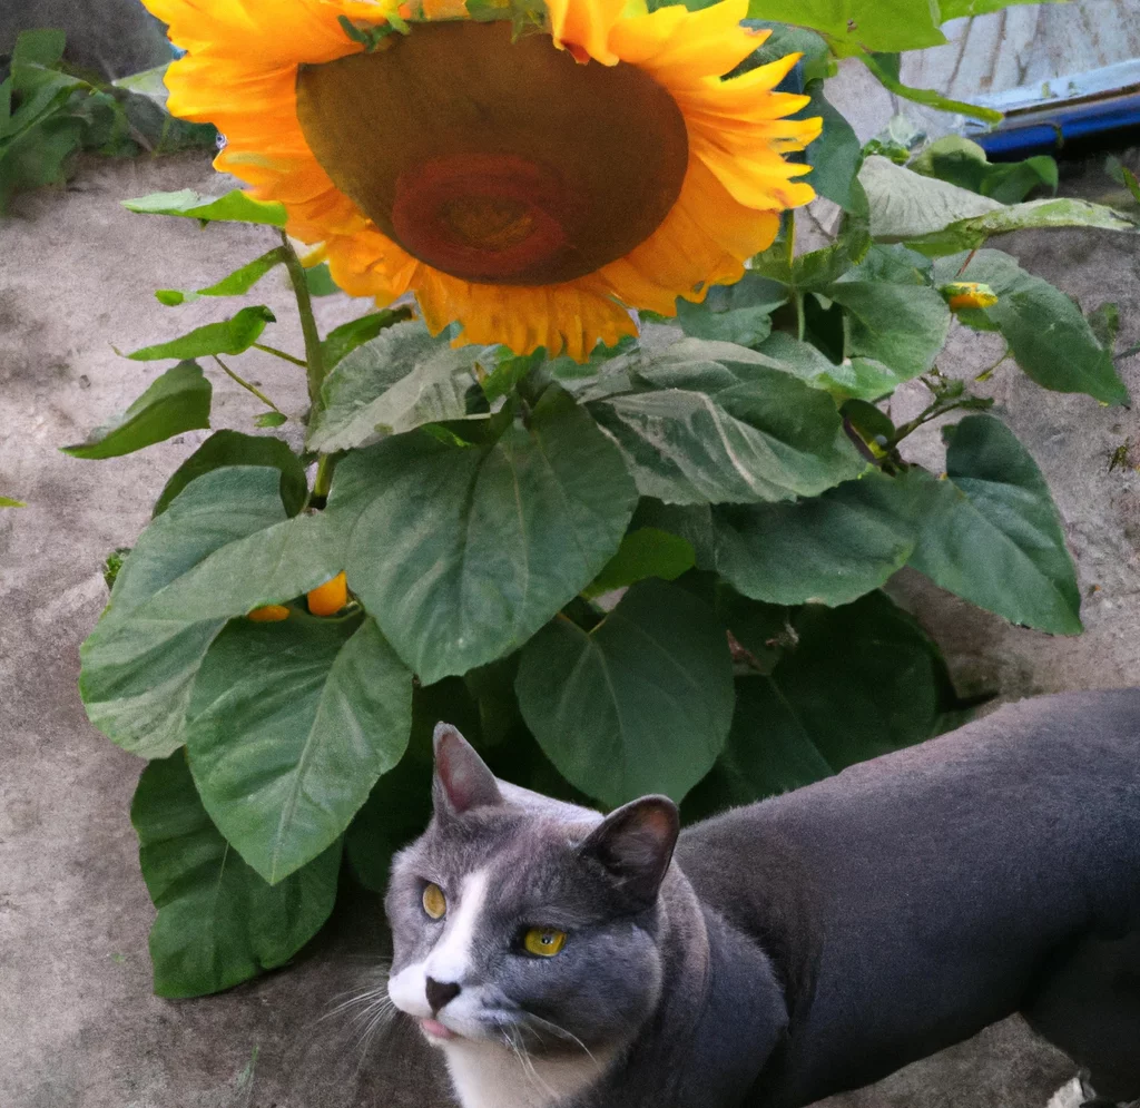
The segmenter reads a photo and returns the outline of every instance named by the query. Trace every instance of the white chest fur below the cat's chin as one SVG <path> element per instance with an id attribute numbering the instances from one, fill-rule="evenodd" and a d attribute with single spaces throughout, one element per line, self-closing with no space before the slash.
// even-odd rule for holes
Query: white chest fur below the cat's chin
<path id="1" fill-rule="evenodd" d="M 526 1061 L 490 1043 L 448 1043 L 451 1084 L 463 1108 L 556 1108 L 597 1081 L 608 1059 Z"/>

